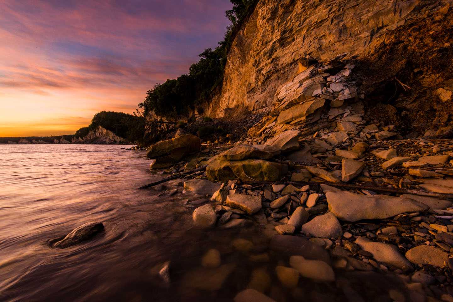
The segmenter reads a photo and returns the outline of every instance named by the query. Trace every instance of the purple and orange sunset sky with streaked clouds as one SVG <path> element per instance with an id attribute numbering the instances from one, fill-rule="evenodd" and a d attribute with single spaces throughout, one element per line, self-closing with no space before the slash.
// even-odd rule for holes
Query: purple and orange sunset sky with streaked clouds
<path id="1" fill-rule="evenodd" d="M 132 113 L 217 47 L 229 0 L 0 0 L 0 137 Z"/>

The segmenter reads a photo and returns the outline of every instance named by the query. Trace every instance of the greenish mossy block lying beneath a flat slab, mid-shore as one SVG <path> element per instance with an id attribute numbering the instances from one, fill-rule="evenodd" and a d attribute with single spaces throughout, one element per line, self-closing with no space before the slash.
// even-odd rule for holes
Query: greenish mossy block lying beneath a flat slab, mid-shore
<path id="1" fill-rule="evenodd" d="M 213 160 L 206 167 L 209 179 L 227 182 L 239 178 L 243 182 L 276 182 L 288 173 L 288 165 L 263 159 Z"/>

